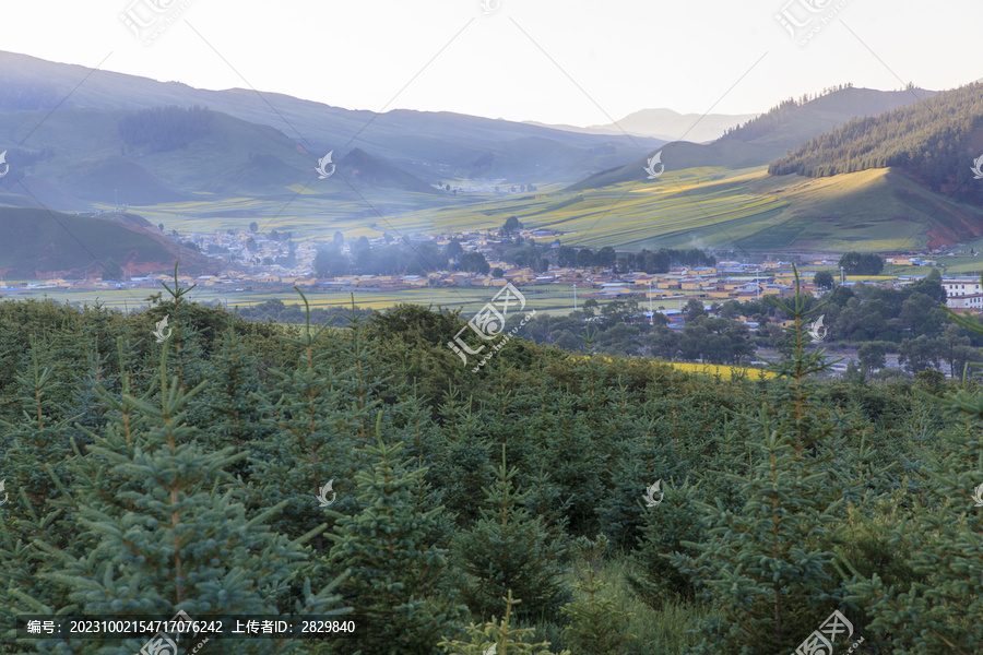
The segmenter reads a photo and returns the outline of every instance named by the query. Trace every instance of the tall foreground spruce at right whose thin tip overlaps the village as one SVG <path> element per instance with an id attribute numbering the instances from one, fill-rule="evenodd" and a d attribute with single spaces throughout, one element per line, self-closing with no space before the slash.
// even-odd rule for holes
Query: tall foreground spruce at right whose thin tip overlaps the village
<path id="1" fill-rule="evenodd" d="M 843 489 L 830 485 L 827 467 L 834 428 L 812 407 L 807 379 L 828 365 L 822 350 L 805 352 L 804 319 L 810 312 L 802 296 L 796 294 L 793 306 L 774 302 L 795 321 L 787 329 L 793 349 L 775 365 L 783 378 L 774 416 L 762 404 L 757 417 L 745 417 L 759 436 L 751 443 L 757 462 L 747 478 L 727 475 L 743 507 L 735 512 L 720 499 L 697 503 L 709 538 L 683 541 L 699 551 L 696 557 L 671 556 L 697 581 L 713 617 L 700 622 L 703 639 L 694 653 L 787 653 L 842 604 L 832 548 Z"/>

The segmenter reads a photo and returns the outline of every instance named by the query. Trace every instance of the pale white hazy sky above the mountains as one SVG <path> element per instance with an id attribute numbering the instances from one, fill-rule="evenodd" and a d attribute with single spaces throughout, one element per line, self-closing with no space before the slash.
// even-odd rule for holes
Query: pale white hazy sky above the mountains
<path id="1" fill-rule="evenodd" d="M 3 0 L 0 49 L 353 109 L 577 126 L 983 78 L 981 0 L 485 1 L 487 14 L 482 0 Z M 142 45 L 121 14 L 157 21 L 143 38 L 171 23 Z"/>

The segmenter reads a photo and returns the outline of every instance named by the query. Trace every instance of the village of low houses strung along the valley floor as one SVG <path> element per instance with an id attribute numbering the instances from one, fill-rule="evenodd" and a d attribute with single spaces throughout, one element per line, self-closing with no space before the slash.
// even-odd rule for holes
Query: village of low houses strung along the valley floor
<path id="1" fill-rule="evenodd" d="M 543 229 L 522 229 L 518 235 L 525 242 L 543 242 L 553 239 L 549 248 L 560 248 L 560 235 Z M 564 235 L 569 236 L 569 235 Z M 443 234 L 425 237 L 417 243 L 431 242 L 439 248 L 446 247 L 457 239 L 464 252 L 481 252 L 487 257 L 489 273 L 482 274 L 469 271 L 433 271 L 425 274 L 407 275 L 340 275 L 318 277 L 315 274 L 315 258 L 323 241 L 300 239 L 293 241 L 289 233 L 270 234 L 247 230 L 225 230 L 216 233 L 181 235 L 180 242 L 211 257 L 222 258 L 225 266 L 216 274 L 188 276 L 179 275 L 181 284 L 197 284 L 200 287 L 222 289 L 224 293 L 235 291 L 280 291 L 297 286 L 301 290 L 325 291 L 399 291 L 419 288 L 441 287 L 502 287 L 512 284 L 519 289 L 529 289 L 542 285 L 561 285 L 572 288 L 575 307 L 577 299 L 591 298 L 619 299 L 635 298 L 643 303 L 647 318 L 653 311 L 661 311 L 670 318 L 671 325 L 682 321 L 683 303 L 696 298 L 712 306 L 725 300 L 756 300 L 765 296 L 789 296 L 795 293 L 795 272 L 790 261 L 763 260 L 760 262 L 742 262 L 736 260 L 719 261 L 713 266 L 674 266 L 665 273 L 623 273 L 617 269 L 556 266 L 550 264 L 545 272 L 536 272 L 530 267 L 517 267 L 493 257 L 493 248 L 501 241 L 497 229 L 465 230 L 458 234 Z M 371 239 L 372 246 L 382 246 L 382 238 Z M 342 247 L 348 252 L 351 245 Z M 939 254 L 939 253 L 936 253 Z M 940 252 L 945 254 L 945 252 Z M 937 265 L 931 255 L 896 254 L 885 258 L 891 266 Z M 288 258 L 288 263 L 284 260 Z M 281 262 L 281 263 L 276 263 Z M 803 293 L 819 296 L 825 289 L 813 284 L 813 275 L 819 270 L 836 270 L 837 262 L 831 260 L 810 260 L 798 263 L 800 288 Z M 126 288 L 158 288 L 162 282 L 173 279 L 171 273 L 152 275 L 126 274 L 123 279 L 54 278 L 36 282 L 0 281 L 0 294 L 14 295 L 19 291 L 36 291 L 39 289 L 100 290 Z M 495 273 L 500 273 L 496 275 Z M 839 283 L 843 285 L 869 284 L 883 286 L 904 286 L 921 275 L 877 275 L 867 278 L 842 274 Z M 954 310 L 983 310 L 983 288 L 979 277 L 944 276 L 947 306 Z M 655 309 L 655 308 L 659 309 Z"/>

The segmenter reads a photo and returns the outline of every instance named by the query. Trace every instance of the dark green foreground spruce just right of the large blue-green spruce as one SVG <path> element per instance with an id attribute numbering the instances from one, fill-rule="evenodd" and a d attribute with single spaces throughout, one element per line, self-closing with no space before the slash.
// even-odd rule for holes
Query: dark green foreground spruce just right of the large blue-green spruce
<path id="1" fill-rule="evenodd" d="M 377 445 L 358 449 L 372 460 L 355 476 L 358 510 L 353 515 L 328 510 L 337 519 L 328 535 L 334 543 L 328 562 L 351 571 L 340 586 L 355 608 L 359 639 L 339 640 L 337 653 L 430 655 L 437 642 L 463 616 L 454 594 L 439 588 L 446 551 L 434 546 L 443 508 L 422 508 L 426 467 L 408 469 L 398 458 L 403 444 L 382 442 L 382 413 Z"/>

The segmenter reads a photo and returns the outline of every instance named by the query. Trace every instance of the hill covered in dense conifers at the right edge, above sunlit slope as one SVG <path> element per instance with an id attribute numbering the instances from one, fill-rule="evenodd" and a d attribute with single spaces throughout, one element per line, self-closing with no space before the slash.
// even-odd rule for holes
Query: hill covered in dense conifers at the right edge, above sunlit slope
<path id="1" fill-rule="evenodd" d="M 970 168 L 980 155 L 983 83 L 975 82 L 880 116 L 855 118 L 772 162 L 768 171 L 822 177 L 897 166 L 933 191 L 979 201 L 983 186 L 972 183 Z"/>

